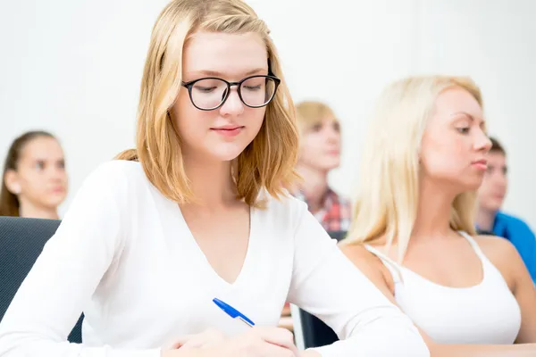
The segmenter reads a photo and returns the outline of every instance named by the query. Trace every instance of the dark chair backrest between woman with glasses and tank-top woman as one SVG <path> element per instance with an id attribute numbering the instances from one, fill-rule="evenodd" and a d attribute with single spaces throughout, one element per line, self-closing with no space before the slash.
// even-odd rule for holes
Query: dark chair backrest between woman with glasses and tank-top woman
<path id="1" fill-rule="evenodd" d="M 328 232 L 331 238 L 340 241 L 346 237 L 347 232 L 343 230 Z M 339 340 L 335 332 L 322 320 L 307 311 L 291 306 L 292 320 L 294 321 L 294 335 L 300 349 L 331 345 Z"/>

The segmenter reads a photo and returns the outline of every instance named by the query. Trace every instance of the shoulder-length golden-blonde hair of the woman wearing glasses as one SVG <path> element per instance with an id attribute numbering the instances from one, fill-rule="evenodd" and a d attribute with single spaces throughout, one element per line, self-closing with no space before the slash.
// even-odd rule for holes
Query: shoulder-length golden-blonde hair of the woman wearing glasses
<path id="1" fill-rule="evenodd" d="M 296 178 L 297 127 L 289 89 L 270 31 L 254 10 L 240 0 L 174 0 L 161 12 L 151 36 L 143 71 L 138 105 L 136 150 L 116 158 L 138 160 L 147 178 L 163 195 L 178 203 L 195 201 L 186 175 L 180 137 L 173 128 L 169 110 L 181 87 L 182 52 L 196 31 L 242 34 L 263 38 L 269 69 L 281 85 L 267 105 L 264 122 L 250 145 L 239 154 L 233 170 L 238 198 L 260 206 L 261 189 L 272 196 L 284 195 L 282 187 Z"/>

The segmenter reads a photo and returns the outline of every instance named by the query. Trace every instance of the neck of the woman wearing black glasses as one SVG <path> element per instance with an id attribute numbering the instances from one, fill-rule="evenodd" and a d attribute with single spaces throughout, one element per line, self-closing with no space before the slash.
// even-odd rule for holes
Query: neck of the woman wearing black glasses
<path id="1" fill-rule="evenodd" d="M 231 162 L 204 162 L 183 155 L 184 168 L 198 205 L 216 208 L 235 203 L 237 187 L 231 176 Z"/>

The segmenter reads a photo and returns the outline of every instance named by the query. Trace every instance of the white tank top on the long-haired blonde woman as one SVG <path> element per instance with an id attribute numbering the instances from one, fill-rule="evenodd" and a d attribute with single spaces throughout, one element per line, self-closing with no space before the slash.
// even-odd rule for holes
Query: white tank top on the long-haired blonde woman
<path id="1" fill-rule="evenodd" d="M 482 282 L 470 287 L 441 286 L 391 260 L 370 245 L 394 281 L 395 300 L 415 325 L 438 344 L 513 344 L 521 311 L 498 269 L 465 232 L 482 262 Z"/>

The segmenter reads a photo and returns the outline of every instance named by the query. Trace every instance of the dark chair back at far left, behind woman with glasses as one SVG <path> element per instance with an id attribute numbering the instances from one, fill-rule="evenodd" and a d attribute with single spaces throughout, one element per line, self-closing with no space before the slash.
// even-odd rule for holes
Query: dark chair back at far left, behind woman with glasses
<path id="1" fill-rule="evenodd" d="M 0 321 L 59 224 L 60 220 L 0 217 Z M 72 329 L 68 338 L 70 342 L 82 342 L 83 317 L 82 314 Z"/>

